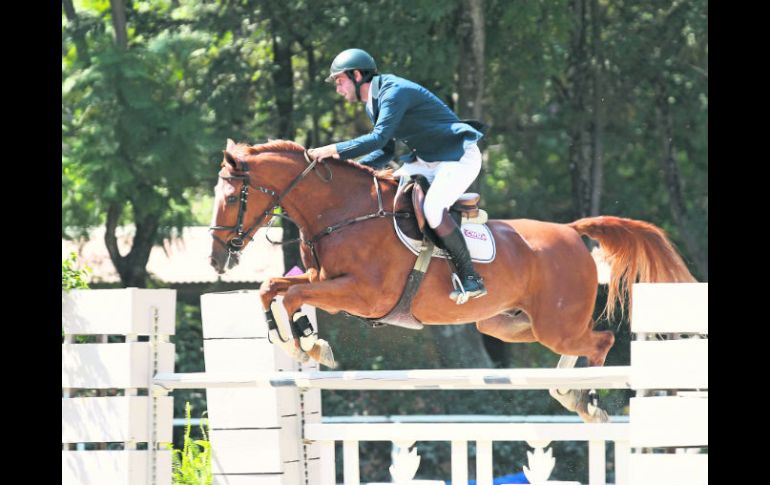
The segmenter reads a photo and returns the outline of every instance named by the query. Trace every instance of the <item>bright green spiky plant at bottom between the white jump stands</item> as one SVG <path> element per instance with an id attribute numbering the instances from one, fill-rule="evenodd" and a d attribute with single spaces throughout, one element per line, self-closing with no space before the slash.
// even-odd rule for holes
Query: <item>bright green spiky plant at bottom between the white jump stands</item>
<path id="1" fill-rule="evenodd" d="M 184 433 L 184 446 L 181 450 L 171 449 L 172 480 L 174 485 L 211 485 L 211 444 L 208 441 L 208 420 L 201 421 L 200 431 L 203 439 L 193 440 L 190 437 L 192 429 L 190 403 L 185 404 L 185 419 L 187 424 Z"/>

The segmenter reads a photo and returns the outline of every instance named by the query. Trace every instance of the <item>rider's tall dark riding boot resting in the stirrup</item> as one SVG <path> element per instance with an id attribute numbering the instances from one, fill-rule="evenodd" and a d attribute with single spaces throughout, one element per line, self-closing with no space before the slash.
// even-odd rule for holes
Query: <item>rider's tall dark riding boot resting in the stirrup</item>
<path id="1" fill-rule="evenodd" d="M 449 298 L 458 305 L 462 305 L 471 298 L 479 298 L 487 294 L 484 287 L 484 281 L 481 276 L 473 269 L 473 261 L 468 252 L 468 246 L 465 244 L 465 238 L 460 232 L 457 223 L 452 219 L 448 212 L 444 212 L 444 217 L 438 227 L 433 228 L 436 235 L 444 243 L 444 247 L 449 252 L 449 256 L 457 267 L 460 276 L 460 288 L 455 289 L 449 294 Z"/>

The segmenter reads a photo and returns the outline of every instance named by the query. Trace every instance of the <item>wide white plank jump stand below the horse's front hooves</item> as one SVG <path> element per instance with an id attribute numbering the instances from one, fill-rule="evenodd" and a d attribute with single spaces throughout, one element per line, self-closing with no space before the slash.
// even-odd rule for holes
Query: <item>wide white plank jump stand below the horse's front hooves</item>
<path id="1" fill-rule="evenodd" d="M 289 321 L 281 299 L 273 305 L 279 325 Z M 317 325 L 313 308 L 303 310 Z M 317 370 L 312 364 L 300 366 L 270 343 L 258 291 L 204 294 L 201 317 L 207 372 Z M 219 481 L 242 483 L 271 475 L 272 483 L 281 485 L 320 482 L 318 447 L 303 442 L 304 424 L 321 419 L 320 393 L 291 387 L 207 389 L 212 471 Z"/>

